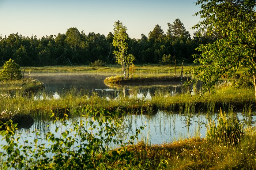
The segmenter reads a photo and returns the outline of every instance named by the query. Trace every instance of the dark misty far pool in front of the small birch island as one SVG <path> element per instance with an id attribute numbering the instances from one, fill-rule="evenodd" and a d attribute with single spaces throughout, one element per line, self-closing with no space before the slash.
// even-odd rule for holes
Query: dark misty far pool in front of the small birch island
<path id="1" fill-rule="evenodd" d="M 158 90 L 164 90 L 170 95 L 182 92 L 182 82 L 155 82 L 150 84 L 108 86 L 104 79 L 110 75 L 92 73 L 34 73 L 30 77 L 44 83 L 45 92 L 49 98 L 58 99 L 65 91 L 75 88 L 89 97 L 97 93 L 107 99 L 116 99 L 120 93 L 129 97 L 151 99 Z M 42 96 L 35 96 L 42 99 Z"/>

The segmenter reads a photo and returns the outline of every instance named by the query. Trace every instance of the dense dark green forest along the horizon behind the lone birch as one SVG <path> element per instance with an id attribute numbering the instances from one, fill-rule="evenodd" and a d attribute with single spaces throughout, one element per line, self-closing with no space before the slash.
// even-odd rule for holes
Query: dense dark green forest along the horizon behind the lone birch
<path id="1" fill-rule="evenodd" d="M 127 53 L 135 56 L 134 63 L 171 64 L 174 58 L 177 62 L 190 63 L 199 44 L 214 40 L 214 37 L 209 38 L 199 31 L 191 38 L 180 19 L 167 24 L 166 34 L 157 24 L 148 36 L 142 34 L 140 39 L 128 38 Z M 88 65 L 97 60 L 114 63 L 113 36 L 112 32 L 107 36 L 94 32 L 86 35 L 76 27 L 40 39 L 36 35 L 28 37 L 13 33 L 2 37 L 0 34 L 0 65 L 10 58 L 20 66 Z"/>

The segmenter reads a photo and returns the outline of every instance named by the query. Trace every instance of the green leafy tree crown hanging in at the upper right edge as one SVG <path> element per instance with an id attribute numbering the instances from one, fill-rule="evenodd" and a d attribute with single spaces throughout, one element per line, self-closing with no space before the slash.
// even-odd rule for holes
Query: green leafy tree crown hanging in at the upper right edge
<path id="1" fill-rule="evenodd" d="M 203 92 L 210 91 L 221 76 L 232 77 L 245 67 L 253 77 L 256 98 L 256 1 L 198 0 L 196 5 L 201 10 L 195 15 L 203 21 L 193 28 L 218 38 L 197 48 L 201 54 L 194 55 L 195 62 L 201 65 L 192 69 L 194 80 L 202 81 Z"/>

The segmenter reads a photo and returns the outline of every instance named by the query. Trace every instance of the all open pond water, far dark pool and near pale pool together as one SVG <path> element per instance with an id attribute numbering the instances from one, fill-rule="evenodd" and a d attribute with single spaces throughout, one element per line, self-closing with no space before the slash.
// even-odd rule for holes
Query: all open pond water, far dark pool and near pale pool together
<path id="1" fill-rule="evenodd" d="M 138 98 L 145 98 L 150 100 L 158 90 L 166 90 L 170 95 L 176 95 L 182 92 L 182 82 L 179 83 L 155 83 L 155 84 L 141 84 L 136 86 L 107 86 L 103 83 L 103 80 L 110 75 L 106 74 L 88 74 L 88 73 L 40 73 L 31 74 L 30 77 L 36 78 L 43 82 L 45 85 L 45 92 L 49 95 L 49 98 L 59 98 L 60 95 L 69 90 L 70 88 L 76 88 L 83 94 L 92 95 L 98 93 L 99 96 L 108 98 L 109 100 L 118 98 L 120 92 L 124 92 L 125 95 Z M 36 95 L 35 100 L 40 100 L 42 96 Z M 120 133 L 124 138 L 134 135 L 135 130 L 140 126 L 145 126 L 140 139 L 148 144 L 160 144 L 163 142 L 172 142 L 178 139 L 191 138 L 193 136 L 205 137 L 207 120 L 211 117 L 212 120 L 216 120 L 217 114 L 171 114 L 163 111 L 158 111 L 155 115 L 127 115 L 124 117 L 125 121 L 123 129 Z M 243 117 L 240 115 L 240 120 Z M 72 121 L 69 120 L 68 124 Z M 253 117 L 255 119 L 255 116 Z M 86 120 L 84 120 L 86 121 Z M 52 121 L 35 120 L 34 124 L 29 129 L 20 129 L 19 133 L 22 133 L 23 139 L 29 139 L 33 141 L 37 136 L 33 132 L 35 129 L 40 130 L 41 135 L 48 131 L 55 133 L 55 128 L 62 125 L 60 122 L 52 124 Z M 58 132 L 56 133 L 59 136 Z M 0 142 L 2 144 L 3 141 Z"/>

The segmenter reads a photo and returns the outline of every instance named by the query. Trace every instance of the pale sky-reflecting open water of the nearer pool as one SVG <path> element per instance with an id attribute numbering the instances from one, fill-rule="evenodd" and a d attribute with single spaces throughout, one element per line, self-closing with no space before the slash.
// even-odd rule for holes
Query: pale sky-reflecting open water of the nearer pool
<path id="1" fill-rule="evenodd" d="M 216 121 L 217 114 L 207 115 L 206 114 L 194 114 L 194 115 L 181 115 L 181 114 L 171 114 L 163 111 L 158 111 L 156 115 L 127 115 L 124 117 L 123 128 L 118 129 L 118 134 L 122 136 L 122 140 L 129 139 L 129 136 L 135 135 L 135 130 L 139 129 L 140 126 L 145 126 L 145 129 L 141 131 L 139 135 L 139 141 L 144 141 L 148 144 L 161 144 L 163 142 L 173 142 L 180 139 L 191 138 L 193 136 L 206 136 L 206 124 L 207 119 L 211 117 L 212 120 Z M 242 123 L 243 117 L 238 115 L 240 122 Z M 253 116 L 255 120 L 256 116 Z M 39 130 L 41 133 L 41 138 L 44 138 L 44 134 L 48 131 L 55 134 L 56 137 L 61 136 L 61 132 L 69 130 L 72 128 L 70 124 L 72 122 L 80 121 L 82 119 L 85 121 L 90 121 L 91 118 L 78 118 L 76 120 L 66 121 L 67 125 L 64 127 L 60 121 L 52 123 L 52 121 L 41 121 L 35 120 L 35 123 L 31 126 L 30 129 L 20 129 L 17 131 L 17 136 L 22 137 L 23 140 L 29 140 L 32 142 L 34 139 L 38 139 L 39 136 L 36 136 L 35 133 L 32 133 L 35 130 Z M 189 126 L 188 126 L 189 124 Z M 57 132 L 55 132 L 56 127 L 60 127 Z M 86 128 L 89 128 L 87 125 Z M 18 133 L 21 133 L 20 135 Z M 74 136 L 74 132 L 70 133 L 71 136 Z M 22 141 L 20 140 L 21 144 Z M 136 142 L 136 141 L 135 141 Z M 46 143 L 46 146 L 49 144 L 48 141 L 39 140 L 39 143 Z M 0 144 L 5 144 L 4 141 L 0 141 Z"/>

